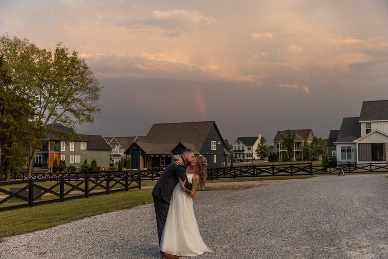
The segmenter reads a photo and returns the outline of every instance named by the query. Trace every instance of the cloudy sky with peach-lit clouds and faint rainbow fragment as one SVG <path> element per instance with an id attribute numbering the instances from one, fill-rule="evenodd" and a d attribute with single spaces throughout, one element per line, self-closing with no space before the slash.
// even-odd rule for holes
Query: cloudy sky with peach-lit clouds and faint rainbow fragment
<path id="1" fill-rule="evenodd" d="M 83 134 L 216 121 L 224 138 L 327 138 L 388 99 L 387 0 L 0 0 L 0 34 L 63 42 L 101 91 Z"/>

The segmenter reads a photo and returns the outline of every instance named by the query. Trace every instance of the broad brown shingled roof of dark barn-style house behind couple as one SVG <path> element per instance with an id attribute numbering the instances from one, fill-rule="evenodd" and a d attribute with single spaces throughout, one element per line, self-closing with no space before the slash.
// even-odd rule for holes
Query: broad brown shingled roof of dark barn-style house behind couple
<path id="1" fill-rule="evenodd" d="M 153 124 L 147 136 L 135 142 L 146 153 L 170 153 L 179 143 L 199 153 L 213 125 L 217 128 L 214 121 Z"/>

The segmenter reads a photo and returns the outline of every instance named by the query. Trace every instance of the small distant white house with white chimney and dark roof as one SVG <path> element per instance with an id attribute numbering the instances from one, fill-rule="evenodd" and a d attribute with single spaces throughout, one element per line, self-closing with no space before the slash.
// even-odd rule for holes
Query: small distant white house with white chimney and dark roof
<path id="1" fill-rule="evenodd" d="M 258 145 L 261 139 L 261 134 L 257 137 L 239 137 L 233 143 L 233 154 L 235 157 L 248 160 L 259 159 L 256 154 Z"/>

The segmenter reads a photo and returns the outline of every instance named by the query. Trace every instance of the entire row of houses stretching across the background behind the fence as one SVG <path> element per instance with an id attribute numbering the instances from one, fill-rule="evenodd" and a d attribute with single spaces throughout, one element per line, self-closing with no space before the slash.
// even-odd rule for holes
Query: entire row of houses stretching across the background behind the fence
<path id="1" fill-rule="evenodd" d="M 62 124 L 52 125 L 57 131 L 70 131 Z M 312 129 L 292 130 L 295 133 L 293 160 L 304 160 L 302 148 L 314 138 Z M 278 131 L 272 152 L 279 159 L 286 151 Z M 239 137 L 232 145 L 237 158 L 259 159 L 256 154 L 261 135 Z M 328 157 L 338 163 L 370 163 L 388 161 L 388 100 L 363 102 L 360 116 L 344 118 L 339 130 L 331 130 L 327 139 Z M 153 124 L 146 136 L 105 137 L 77 135 L 64 141 L 55 134 L 47 134 L 46 144 L 36 152 L 34 166 L 52 167 L 54 160 L 80 167 L 85 159 L 96 159 L 103 169 L 124 158 L 131 159 L 133 169 L 163 168 L 185 148 L 195 155 L 205 156 L 209 168 L 226 167 L 228 152 L 224 138 L 215 121 Z"/>

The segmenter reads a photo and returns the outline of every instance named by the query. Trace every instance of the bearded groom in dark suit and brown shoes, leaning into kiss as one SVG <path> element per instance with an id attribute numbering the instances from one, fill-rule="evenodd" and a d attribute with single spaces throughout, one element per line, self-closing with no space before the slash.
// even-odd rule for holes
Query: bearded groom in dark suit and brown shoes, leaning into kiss
<path id="1" fill-rule="evenodd" d="M 186 166 L 191 165 L 194 160 L 194 152 L 190 149 L 184 149 L 180 155 L 183 159 L 184 165 L 176 165 L 174 162 L 169 164 L 163 171 L 161 177 L 152 190 L 152 199 L 154 200 L 156 225 L 158 227 L 159 245 L 161 244 L 162 232 L 164 224 L 166 223 L 168 208 L 170 207 L 170 200 L 175 186 L 179 182 L 187 180 Z M 186 181 L 185 187 L 192 188 L 192 185 Z M 163 251 L 162 258 L 177 259 L 175 255 L 166 254 Z"/>

